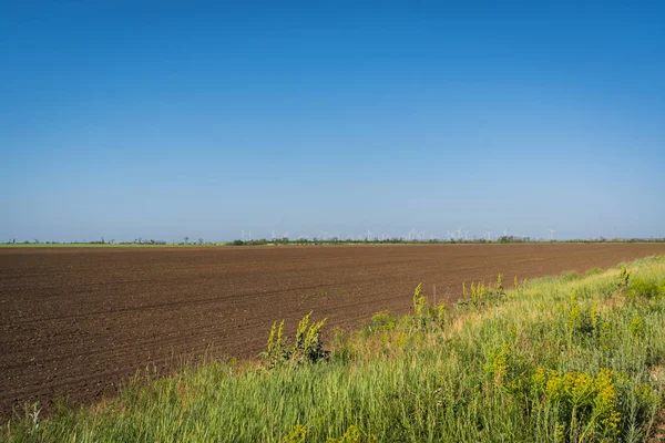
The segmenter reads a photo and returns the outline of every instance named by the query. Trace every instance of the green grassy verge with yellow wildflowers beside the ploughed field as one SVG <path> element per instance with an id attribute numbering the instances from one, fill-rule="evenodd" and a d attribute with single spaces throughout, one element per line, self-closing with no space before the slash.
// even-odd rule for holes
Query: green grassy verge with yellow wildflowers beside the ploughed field
<path id="1" fill-rule="evenodd" d="M 627 271 L 566 274 L 510 291 L 468 285 L 468 298 L 453 306 L 417 293 L 409 316 L 382 312 L 360 331 L 329 332 L 327 361 L 273 348 L 272 369 L 185 367 L 94 406 L 61 408 L 44 421 L 27 414 L 0 439 L 657 441 L 665 437 L 665 257 Z"/>

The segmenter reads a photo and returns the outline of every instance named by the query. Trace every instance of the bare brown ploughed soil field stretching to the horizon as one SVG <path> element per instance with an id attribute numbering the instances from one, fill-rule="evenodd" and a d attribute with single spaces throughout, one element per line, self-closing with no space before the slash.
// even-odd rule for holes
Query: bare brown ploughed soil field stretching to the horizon
<path id="1" fill-rule="evenodd" d="M 328 328 L 402 313 L 413 287 L 453 301 L 462 281 L 534 278 L 653 254 L 658 244 L 0 249 L 0 418 L 57 396 L 113 394 L 180 356 L 255 357 L 273 321 Z M 436 289 L 434 289 L 436 288 Z"/>

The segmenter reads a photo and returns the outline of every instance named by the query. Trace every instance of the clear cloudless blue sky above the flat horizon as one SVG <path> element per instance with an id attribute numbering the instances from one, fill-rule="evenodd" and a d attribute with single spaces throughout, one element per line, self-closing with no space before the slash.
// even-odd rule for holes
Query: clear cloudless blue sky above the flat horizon
<path id="1" fill-rule="evenodd" d="M 237 3 L 4 3 L 0 239 L 665 236 L 662 2 Z"/>

